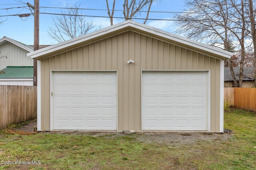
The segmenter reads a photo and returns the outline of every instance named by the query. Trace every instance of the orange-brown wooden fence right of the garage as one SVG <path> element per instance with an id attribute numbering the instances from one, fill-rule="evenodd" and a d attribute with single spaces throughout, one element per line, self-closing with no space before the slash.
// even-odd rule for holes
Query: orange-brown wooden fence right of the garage
<path id="1" fill-rule="evenodd" d="M 230 106 L 256 111 L 256 88 L 224 88 L 224 99 Z"/>

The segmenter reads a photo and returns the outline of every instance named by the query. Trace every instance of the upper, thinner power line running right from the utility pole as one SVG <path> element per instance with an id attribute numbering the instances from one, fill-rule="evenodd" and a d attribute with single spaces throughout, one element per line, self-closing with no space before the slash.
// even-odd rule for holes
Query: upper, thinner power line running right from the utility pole
<path id="1" fill-rule="evenodd" d="M 67 7 L 50 7 L 50 6 L 40 6 L 40 8 L 56 8 L 56 9 L 74 9 L 74 10 L 96 10 L 96 11 L 108 11 L 107 9 L 93 9 L 93 8 L 67 8 Z M 112 10 L 110 10 L 112 11 Z M 124 10 L 114 10 L 114 11 L 121 11 Z M 125 12 L 148 12 L 148 11 L 140 11 L 140 10 L 125 10 Z M 174 11 L 149 11 L 152 13 L 170 13 L 170 14 L 205 14 L 203 12 L 174 12 Z M 234 13 L 207 13 L 207 14 L 232 14 Z M 249 13 L 244 13 L 249 14 Z"/>

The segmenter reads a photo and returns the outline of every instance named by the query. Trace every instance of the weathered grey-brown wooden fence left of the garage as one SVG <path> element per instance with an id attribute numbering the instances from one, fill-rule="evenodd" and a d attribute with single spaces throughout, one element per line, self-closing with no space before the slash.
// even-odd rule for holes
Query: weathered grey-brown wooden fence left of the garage
<path id="1" fill-rule="evenodd" d="M 36 86 L 0 86 L 0 129 L 36 119 Z"/>

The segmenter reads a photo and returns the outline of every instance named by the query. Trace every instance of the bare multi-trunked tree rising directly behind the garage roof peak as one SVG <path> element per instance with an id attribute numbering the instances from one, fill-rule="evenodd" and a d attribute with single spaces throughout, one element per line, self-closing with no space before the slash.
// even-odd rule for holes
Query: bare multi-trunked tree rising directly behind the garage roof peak
<path id="1" fill-rule="evenodd" d="M 130 0 L 129 2 L 129 0 L 124 0 L 124 3 L 122 4 L 124 19 L 131 20 L 132 18 L 136 18 L 137 15 L 140 15 L 141 10 L 146 10 L 146 18 L 144 21 L 144 24 L 146 24 L 152 3 L 158 1 L 159 0 Z M 110 18 L 110 24 L 113 25 L 116 1 L 113 1 L 112 10 L 109 9 L 108 0 L 106 0 L 106 5 L 108 9 L 108 16 Z"/>

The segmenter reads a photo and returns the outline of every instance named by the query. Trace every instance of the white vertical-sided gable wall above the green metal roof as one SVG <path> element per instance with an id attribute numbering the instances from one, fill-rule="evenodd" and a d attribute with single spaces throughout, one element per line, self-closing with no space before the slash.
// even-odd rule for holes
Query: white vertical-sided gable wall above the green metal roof
<path id="1" fill-rule="evenodd" d="M 27 57 L 28 51 L 14 45 L 12 43 L 5 43 L 0 45 L 1 56 L 7 56 L 0 59 L 0 70 L 6 66 L 33 66 L 33 60 Z"/>

